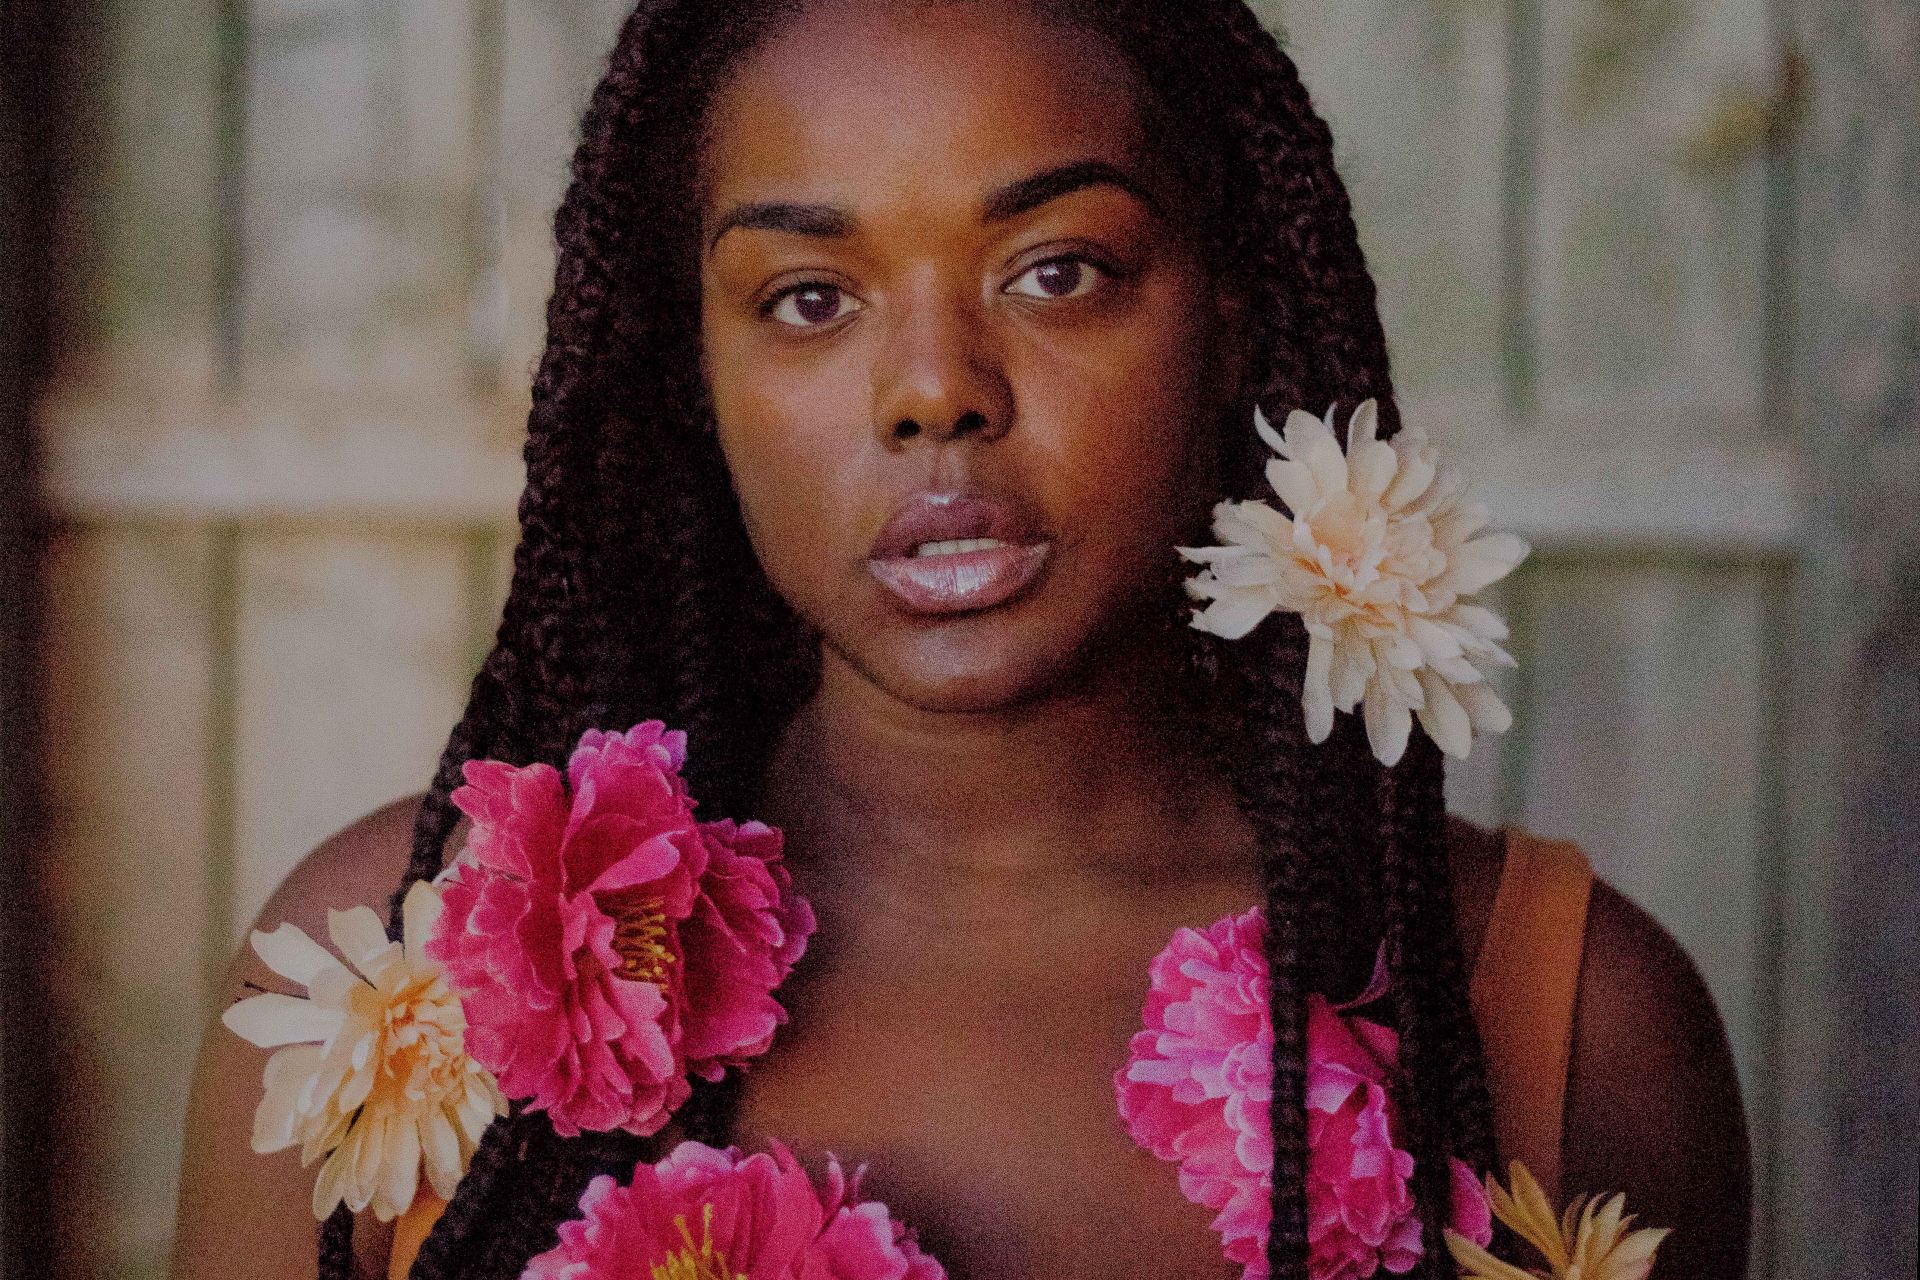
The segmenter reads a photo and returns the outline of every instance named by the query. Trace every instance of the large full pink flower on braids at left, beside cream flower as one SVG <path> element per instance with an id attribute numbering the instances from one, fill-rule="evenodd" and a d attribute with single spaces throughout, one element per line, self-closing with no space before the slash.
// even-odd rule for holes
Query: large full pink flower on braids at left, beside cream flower
<path id="1" fill-rule="evenodd" d="M 468 1052 L 555 1132 L 657 1132 L 691 1086 L 766 1050 L 814 917 L 762 823 L 699 823 L 685 735 L 589 729 L 566 764 L 465 766 L 472 833 L 426 946 Z"/>

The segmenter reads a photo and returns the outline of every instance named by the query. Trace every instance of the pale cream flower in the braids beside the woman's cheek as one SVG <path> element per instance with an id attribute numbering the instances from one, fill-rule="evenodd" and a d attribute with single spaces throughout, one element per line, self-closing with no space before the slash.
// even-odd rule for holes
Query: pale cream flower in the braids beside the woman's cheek
<path id="1" fill-rule="evenodd" d="M 1465 499 L 1465 478 L 1438 461 L 1417 426 L 1377 439 L 1379 413 L 1363 401 L 1332 432 L 1332 409 L 1315 418 L 1286 415 L 1286 434 L 1254 411 L 1254 430 L 1281 457 L 1267 484 L 1286 503 L 1221 503 L 1213 509 L 1219 547 L 1181 547 L 1206 564 L 1187 591 L 1208 601 L 1192 626 L 1240 639 L 1269 612 L 1298 612 L 1308 629 L 1302 708 L 1308 737 L 1325 743 L 1334 710 L 1365 700 L 1367 741 L 1382 764 L 1407 748 L 1413 712 L 1450 756 L 1465 756 L 1475 733 L 1513 723 L 1486 683 L 1513 666 L 1498 645 L 1507 626 L 1463 597 L 1505 578 L 1528 545 L 1511 533 L 1475 533 L 1484 503 Z"/>

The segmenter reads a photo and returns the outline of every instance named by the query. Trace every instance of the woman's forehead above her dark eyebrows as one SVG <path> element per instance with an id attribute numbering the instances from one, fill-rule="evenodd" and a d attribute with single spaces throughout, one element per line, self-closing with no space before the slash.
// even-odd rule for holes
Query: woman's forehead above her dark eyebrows
<path id="1" fill-rule="evenodd" d="M 703 190 L 860 205 L 975 201 L 1104 159 L 1152 182 L 1133 69 L 1018 0 L 824 0 L 770 35 L 708 109 Z"/>

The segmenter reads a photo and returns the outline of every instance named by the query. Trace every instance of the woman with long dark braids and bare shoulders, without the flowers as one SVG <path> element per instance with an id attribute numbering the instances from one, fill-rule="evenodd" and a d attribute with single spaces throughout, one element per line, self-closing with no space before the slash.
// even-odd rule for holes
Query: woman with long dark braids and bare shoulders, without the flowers
<path id="1" fill-rule="evenodd" d="M 1219 497 L 1267 493 L 1256 403 L 1344 422 L 1371 397 L 1398 426 L 1331 138 L 1254 15 L 645 2 L 557 238 L 497 647 L 424 800 L 330 841 L 261 919 L 315 933 L 438 871 L 463 760 L 660 718 L 703 812 L 785 829 L 820 919 L 770 1055 L 662 1142 L 872 1159 L 956 1276 L 1236 1274 L 1127 1142 L 1112 1073 L 1167 936 L 1263 902 L 1275 1274 L 1306 1257 L 1304 998 L 1359 990 L 1382 938 L 1438 1240 L 1446 1157 L 1496 1167 L 1467 958 L 1500 835 L 1444 816 L 1423 735 L 1392 768 L 1356 716 L 1309 745 L 1298 622 L 1198 635 L 1173 555 Z M 1661 1274 L 1738 1276 L 1713 1002 L 1605 885 L 1584 927 L 1561 1182 L 1676 1228 Z M 275 977 L 242 956 L 248 983 Z M 179 1274 L 313 1274 L 311 1173 L 248 1151 L 257 1080 L 209 1040 Z M 593 1173 L 659 1150 L 495 1123 L 413 1274 L 518 1274 Z"/>

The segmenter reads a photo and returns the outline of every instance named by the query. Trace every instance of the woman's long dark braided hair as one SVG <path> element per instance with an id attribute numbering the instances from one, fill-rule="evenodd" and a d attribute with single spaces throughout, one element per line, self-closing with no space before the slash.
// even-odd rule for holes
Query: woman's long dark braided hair
<path id="1" fill-rule="evenodd" d="M 407 885 L 442 867 L 463 762 L 561 764 L 586 727 L 659 718 L 689 733 L 693 794 L 739 814 L 814 689 L 818 637 L 760 572 L 714 439 L 691 200 L 720 75 L 801 4 L 641 0 L 618 35 L 555 215 L 513 587 L 420 806 L 396 913 Z M 1386 338 L 1332 136 L 1273 35 L 1242 0 L 1037 4 L 1104 35 L 1140 71 L 1150 130 L 1204 196 L 1200 234 L 1219 278 L 1244 290 L 1250 365 L 1221 420 L 1221 497 L 1267 495 L 1254 403 L 1269 415 L 1325 405 L 1344 415 L 1375 397 L 1380 436 L 1392 436 Z M 639 280 L 645 290 L 632 288 Z M 1271 618 L 1233 645 L 1188 629 L 1185 643 L 1215 764 L 1261 848 L 1271 1274 L 1306 1276 L 1306 994 L 1357 988 L 1384 940 L 1405 1069 L 1402 1142 L 1428 1244 L 1415 1274 L 1444 1276 L 1448 1157 L 1492 1167 L 1494 1140 L 1453 935 L 1440 752 L 1413 733 L 1402 762 L 1382 768 L 1354 716 L 1308 743 L 1298 618 Z M 518 1276 L 553 1245 L 593 1174 L 659 1157 L 668 1132 L 728 1142 L 733 1084 L 695 1080 L 653 1138 L 561 1140 L 543 1115 L 515 1107 L 482 1140 L 415 1280 Z M 348 1215 L 323 1230 L 323 1280 L 348 1276 L 349 1232 Z"/>

